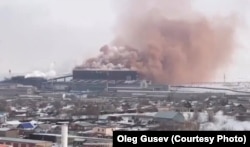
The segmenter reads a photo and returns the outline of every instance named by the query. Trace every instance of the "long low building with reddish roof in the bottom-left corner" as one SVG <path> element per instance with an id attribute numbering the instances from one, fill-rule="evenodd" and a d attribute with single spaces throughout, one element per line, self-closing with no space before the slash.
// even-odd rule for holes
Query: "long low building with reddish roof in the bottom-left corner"
<path id="1" fill-rule="evenodd" d="M 1 137 L 0 144 L 11 145 L 13 147 L 52 147 L 52 142 L 38 141 L 20 138 Z"/>

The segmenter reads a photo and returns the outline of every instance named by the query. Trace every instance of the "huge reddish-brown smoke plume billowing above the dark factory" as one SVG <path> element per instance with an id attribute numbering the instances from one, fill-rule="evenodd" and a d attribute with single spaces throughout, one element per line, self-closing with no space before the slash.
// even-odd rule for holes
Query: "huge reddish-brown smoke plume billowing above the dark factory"
<path id="1" fill-rule="evenodd" d="M 207 18 L 189 0 L 122 2 L 112 42 L 117 47 L 104 46 L 85 67 L 136 69 L 154 82 L 181 84 L 211 80 L 230 60 L 232 18 Z"/>

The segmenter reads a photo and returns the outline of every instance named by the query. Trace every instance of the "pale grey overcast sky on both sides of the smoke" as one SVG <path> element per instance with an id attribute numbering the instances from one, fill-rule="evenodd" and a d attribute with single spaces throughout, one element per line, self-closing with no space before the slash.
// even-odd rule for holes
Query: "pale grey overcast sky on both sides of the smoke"
<path id="1" fill-rule="evenodd" d="M 248 0 L 239 1 L 197 0 L 194 6 L 208 15 L 237 11 L 250 20 Z M 112 40 L 113 10 L 112 0 L 1 0 L 0 75 L 9 69 L 13 73 L 46 71 L 52 62 L 57 72 L 70 72 Z M 239 33 L 244 46 L 219 78 L 225 72 L 232 80 L 250 80 L 248 34 L 247 29 Z"/>

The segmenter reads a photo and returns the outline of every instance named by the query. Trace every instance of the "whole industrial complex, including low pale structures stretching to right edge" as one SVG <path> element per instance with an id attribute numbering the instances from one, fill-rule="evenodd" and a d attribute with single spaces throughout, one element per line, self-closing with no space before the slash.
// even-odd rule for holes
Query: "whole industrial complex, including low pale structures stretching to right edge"
<path id="1" fill-rule="evenodd" d="M 31 87 L 20 87 L 24 86 Z M 8 92 L 6 86 L 11 89 Z M 19 91 L 23 91 L 22 95 L 35 94 L 35 93 L 73 93 L 77 95 L 87 95 L 88 97 L 192 97 L 206 93 L 207 95 L 218 94 L 223 95 L 225 91 L 227 93 L 241 93 L 250 94 L 250 92 L 244 92 L 234 89 L 226 88 L 208 88 L 200 87 L 198 85 L 182 85 L 172 86 L 167 84 L 158 84 L 143 79 L 137 71 L 134 70 L 100 70 L 100 69 L 80 69 L 75 68 L 72 70 L 72 74 L 58 76 L 50 79 L 16 76 L 7 79 L 0 83 L 0 91 L 7 93 L 6 95 L 15 96 Z M 18 88 L 13 88 L 18 87 Z M 13 95 L 13 89 L 17 89 L 17 93 Z M 19 92 L 20 93 L 20 92 Z"/>

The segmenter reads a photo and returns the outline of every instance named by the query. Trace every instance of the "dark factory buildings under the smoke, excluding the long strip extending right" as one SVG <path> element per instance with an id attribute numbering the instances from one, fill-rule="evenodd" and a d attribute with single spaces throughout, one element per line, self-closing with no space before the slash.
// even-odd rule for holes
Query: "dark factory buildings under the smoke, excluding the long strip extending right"
<path id="1" fill-rule="evenodd" d="M 131 91 L 156 93 L 168 90 L 168 85 L 152 84 L 141 79 L 139 73 L 133 70 L 94 70 L 74 69 L 71 75 L 43 79 L 39 77 L 12 77 L 4 83 L 31 85 L 39 91 L 49 92 L 94 92 L 121 93 L 127 95 Z"/>

